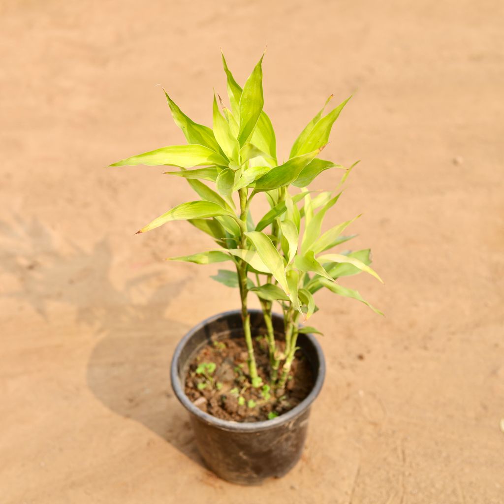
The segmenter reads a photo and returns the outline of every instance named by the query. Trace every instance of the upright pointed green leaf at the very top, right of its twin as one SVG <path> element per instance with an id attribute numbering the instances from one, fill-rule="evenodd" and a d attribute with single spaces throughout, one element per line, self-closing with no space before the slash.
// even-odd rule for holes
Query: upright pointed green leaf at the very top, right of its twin
<path id="1" fill-rule="evenodd" d="M 250 137 L 256 123 L 263 111 L 264 96 L 263 96 L 263 57 L 261 56 L 259 63 L 254 68 L 243 86 L 243 91 L 239 102 L 239 124 L 238 142 L 242 146 Z"/>

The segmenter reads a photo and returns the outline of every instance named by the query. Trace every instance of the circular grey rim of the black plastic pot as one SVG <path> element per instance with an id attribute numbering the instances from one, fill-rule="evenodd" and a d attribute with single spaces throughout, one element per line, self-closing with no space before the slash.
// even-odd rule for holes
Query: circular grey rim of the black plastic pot
<path id="1" fill-rule="evenodd" d="M 260 309 L 249 309 L 248 312 L 250 314 L 262 314 L 262 310 Z M 235 314 L 240 314 L 240 310 L 229 310 L 224 311 L 222 313 L 217 313 L 208 319 L 205 319 L 203 322 L 200 322 L 198 325 L 193 327 L 190 331 L 188 331 L 185 336 L 179 341 L 178 345 L 175 348 L 175 352 L 173 353 L 173 357 L 171 359 L 171 387 L 173 392 L 177 396 L 177 399 L 182 403 L 182 406 L 186 410 L 188 410 L 193 415 L 197 416 L 201 421 L 205 423 L 211 424 L 215 427 L 218 427 L 222 430 L 232 430 L 232 431 L 240 431 L 240 432 L 257 432 L 260 430 L 266 430 L 273 427 L 277 427 L 284 423 L 287 423 L 298 415 L 303 413 L 307 408 L 311 406 L 311 403 L 317 398 L 319 395 L 322 385 L 324 384 L 324 378 L 326 375 L 326 362 L 324 359 L 324 353 L 322 352 L 322 347 L 320 346 L 317 339 L 310 333 L 303 333 L 303 336 L 308 339 L 310 344 L 313 346 L 317 353 L 317 357 L 319 359 L 319 369 L 317 373 L 317 379 L 311 389 L 310 393 L 294 408 L 287 411 L 287 413 L 283 413 L 272 420 L 261 420 L 259 422 L 236 422 L 234 420 L 223 420 L 221 418 L 217 418 L 209 413 L 205 413 L 200 408 L 195 406 L 185 395 L 182 385 L 180 383 L 180 379 L 177 371 L 177 363 L 180 358 L 180 354 L 186 343 L 193 337 L 193 335 L 202 329 L 207 324 L 214 322 L 215 320 L 222 319 L 224 317 L 228 317 Z M 282 317 L 277 313 L 273 313 L 273 316 Z"/>

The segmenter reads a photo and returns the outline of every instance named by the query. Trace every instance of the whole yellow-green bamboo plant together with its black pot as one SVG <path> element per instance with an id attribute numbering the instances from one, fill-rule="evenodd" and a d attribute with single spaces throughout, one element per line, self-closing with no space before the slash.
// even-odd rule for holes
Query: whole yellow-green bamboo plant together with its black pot
<path id="1" fill-rule="evenodd" d="M 263 55 L 264 57 L 264 55 Z M 278 162 L 275 133 L 263 110 L 262 61 L 243 88 L 222 56 L 230 106 L 213 98 L 213 128 L 187 117 L 165 92 L 187 145 L 162 147 L 111 166 L 169 165 L 199 196 L 181 203 L 139 233 L 186 220 L 215 245 L 172 261 L 227 263 L 212 277 L 237 288 L 239 310 L 220 313 L 191 330 L 171 366 L 173 390 L 190 412 L 199 450 L 208 466 L 232 482 L 258 484 L 282 476 L 300 457 L 311 403 L 324 381 L 318 331 L 302 327 L 318 309 L 313 294 L 328 289 L 367 304 L 337 279 L 366 272 L 370 251 L 331 249 L 351 239 L 342 234 L 359 217 L 321 233 L 326 212 L 341 192 L 313 192 L 310 182 L 328 169 L 348 169 L 319 157 L 348 99 L 302 130 L 289 159 Z M 220 103 L 220 107 L 219 107 Z M 266 198 L 270 210 L 254 220 L 250 204 Z M 248 309 L 250 295 L 261 310 Z M 273 304 L 281 314 L 273 312 Z"/>

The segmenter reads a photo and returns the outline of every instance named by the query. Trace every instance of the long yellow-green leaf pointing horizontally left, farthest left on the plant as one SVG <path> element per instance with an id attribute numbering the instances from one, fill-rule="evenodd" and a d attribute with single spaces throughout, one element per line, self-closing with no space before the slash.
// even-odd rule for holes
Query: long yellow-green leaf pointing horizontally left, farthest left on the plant
<path id="1" fill-rule="evenodd" d="M 110 166 L 147 166 L 172 165 L 190 168 L 201 165 L 227 165 L 227 160 L 204 145 L 170 145 L 155 151 L 144 152 L 137 156 L 122 159 Z"/>

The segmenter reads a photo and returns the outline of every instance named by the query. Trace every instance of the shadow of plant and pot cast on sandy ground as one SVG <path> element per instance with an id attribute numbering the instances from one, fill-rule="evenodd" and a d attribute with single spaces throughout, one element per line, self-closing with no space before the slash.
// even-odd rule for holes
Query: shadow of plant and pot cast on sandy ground
<path id="1" fill-rule="evenodd" d="M 93 395 L 205 467 L 187 413 L 169 381 L 171 354 L 188 330 L 165 315 L 182 288 L 180 282 L 158 268 L 117 287 L 110 279 L 108 238 L 86 251 L 62 242 L 36 219 L 15 216 L 12 222 L 0 221 L 0 272 L 15 278 L 0 295 L 30 305 L 48 324 L 50 303 L 74 307 L 76 325 L 101 337 L 86 369 Z"/>

